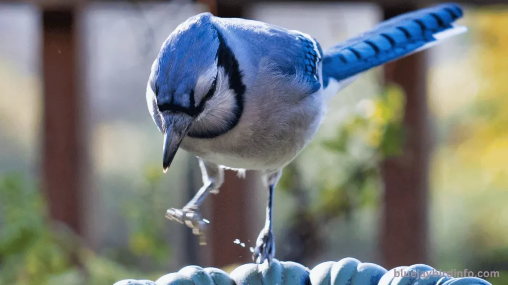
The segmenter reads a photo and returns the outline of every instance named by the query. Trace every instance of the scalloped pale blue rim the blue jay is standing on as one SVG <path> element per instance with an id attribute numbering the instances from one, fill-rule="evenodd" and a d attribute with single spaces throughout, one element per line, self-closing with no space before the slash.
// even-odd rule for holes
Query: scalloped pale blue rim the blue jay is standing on
<path id="1" fill-rule="evenodd" d="M 425 264 L 399 266 L 387 271 L 354 258 L 328 261 L 312 270 L 290 261 L 273 259 L 264 264 L 244 264 L 228 275 L 218 268 L 186 266 L 156 281 L 122 280 L 113 285 L 492 285 L 477 277 L 454 278 Z"/>

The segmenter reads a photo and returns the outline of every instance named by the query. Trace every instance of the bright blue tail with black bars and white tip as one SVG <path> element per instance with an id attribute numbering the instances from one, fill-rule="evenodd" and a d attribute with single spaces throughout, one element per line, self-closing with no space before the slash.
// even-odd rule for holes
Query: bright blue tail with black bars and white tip
<path id="1" fill-rule="evenodd" d="M 335 94 L 351 83 L 355 75 L 369 68 L 465 32 L 466 27 L 452 25 L 461 17 L 459 5 L 441 4 L 391 18 L 359 37 L 330 48 L 323 57 L 325 92 Z"/>

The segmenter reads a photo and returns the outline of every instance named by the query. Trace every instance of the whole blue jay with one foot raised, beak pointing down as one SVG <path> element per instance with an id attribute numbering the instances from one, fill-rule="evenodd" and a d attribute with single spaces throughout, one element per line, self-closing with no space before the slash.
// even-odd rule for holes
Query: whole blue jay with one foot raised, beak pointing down
<path id="1" fill-rule="evenodd" d="M 224 169 L 262 171 L 268 205 L 253 259 L 270 262 L 273 190 L 316 133 L 328 98 L 367 69 L 464 32 L 453 25 L 461 16 L 455 4 L 418 10 L 326 52 L 306 33 L 259 21 L 202 13 L 181 23 L 153 62 L 146 99 L 164 133 L 164 171 L 181 148 L 198 157 L 204 185 L 166 217 L 202 235 L 199 207 L 218 193 Z"/>

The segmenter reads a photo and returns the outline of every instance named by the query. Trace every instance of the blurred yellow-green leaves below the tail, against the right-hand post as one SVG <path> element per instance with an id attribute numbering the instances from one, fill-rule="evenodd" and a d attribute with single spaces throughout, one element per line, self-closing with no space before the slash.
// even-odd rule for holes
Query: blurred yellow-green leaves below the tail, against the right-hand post
<path id="1" fill-rule="evenodd" d="M 354 207 L 377 204 L 379 164 L 402 150 L 403 111 L 403 91 L 397 86 L 388 86 L 379 96 L 362 100 L 338 130 L 336 138 L 324 142 L 330 151 L 357 159 L 341 166 L 348 169 L 348 175 L 339 185 L 323 185 L 314 212 L 332 218 L 347 214 Z M 366 155 L 354 156 L 352 152 L 358 149 Z"/>

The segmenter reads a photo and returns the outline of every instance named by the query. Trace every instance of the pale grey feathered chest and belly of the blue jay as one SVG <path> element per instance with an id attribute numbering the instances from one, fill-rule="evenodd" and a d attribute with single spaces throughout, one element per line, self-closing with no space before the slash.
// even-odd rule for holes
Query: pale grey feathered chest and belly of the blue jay
<path id="1" fill-rule="evenodd" d="M 210 138 L 187 136 L 180 147 L 207 161 L 234 168 L 278 169 L 288 164 L 314 136 L 324 106 L 321 90 L 298 94 L 290 84 L 286 88 L 284 85 L 252 86 L 245 93 L 243 113 L 234 128 Z M 290 101 L 290 97 L 300 99 Z M 204 129 L 207 124 L 224 124 L 223 120 L 220 116 L 207 117 L 196 126 Z"/>

